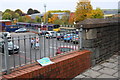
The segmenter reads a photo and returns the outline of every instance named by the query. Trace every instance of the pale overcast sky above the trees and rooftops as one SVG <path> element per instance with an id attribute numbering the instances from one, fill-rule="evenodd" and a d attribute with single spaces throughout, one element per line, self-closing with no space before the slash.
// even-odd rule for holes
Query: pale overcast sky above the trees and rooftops
<path id="1" fill-rule="evenodd" d="M 0 0 L 0 11 L 5 9 L 21 9 L 27 12 L 29 8 L 37 9 L 44 12 L 44 4 L 46 10 L 70 10 L 75 11 L 76 3 L 79 0 Z M 117 9 L 119 0 L 91 0 L 93 8 L 99 7 L 101 9 Z"/>

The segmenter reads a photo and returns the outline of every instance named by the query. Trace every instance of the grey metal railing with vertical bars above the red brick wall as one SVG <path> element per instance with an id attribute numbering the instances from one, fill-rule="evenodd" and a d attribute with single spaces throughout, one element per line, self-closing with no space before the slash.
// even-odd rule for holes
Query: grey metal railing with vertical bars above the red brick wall
<path id="1" fill-rule="evenodd" d="M 78 50 L 81 46 L 81 40 L 72 41 L 72 39 L 65 40 L 66 34 L 72 32 L 61 32 L 64 35 L 57 37 L 47 36 L 46 34 L 30 34 L 14 36 L 7 39 L 4 35 L 4 53 L 2 53 L 2 69 L 6 74 L 9 74 L 12 69 L 32 64 L 43 57 L 54 57 L 59 54 L 65 54 L 70 51 Z M 15 33 L 18 34 L 18 33 Z M 79 34 L 74 34 L 74 36 Z M 73 37 L 73 36 L 72 36 Z M 79 45 L 80 43 L 80 45 Z"/>

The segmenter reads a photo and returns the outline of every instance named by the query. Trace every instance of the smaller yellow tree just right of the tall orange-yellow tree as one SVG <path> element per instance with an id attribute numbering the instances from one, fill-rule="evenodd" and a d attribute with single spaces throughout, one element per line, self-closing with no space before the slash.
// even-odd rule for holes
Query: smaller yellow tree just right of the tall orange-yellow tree
<path id="1" fill-rule="evenodd" d="M 88 15 L 89 18 L 103 18 L 104 13 L 100 8 L 96 8 L 96 10 L 92 10 L 91 14 Z"/>

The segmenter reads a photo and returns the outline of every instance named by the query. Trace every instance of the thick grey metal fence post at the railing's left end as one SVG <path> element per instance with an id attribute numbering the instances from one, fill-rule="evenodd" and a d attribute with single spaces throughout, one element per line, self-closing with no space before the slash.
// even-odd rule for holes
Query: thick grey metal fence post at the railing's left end
<path id="1" fill-rule="evenodd" d="M 4 35 L 4 55 L 5 55 L 5 69 L 7 70 L 6 74 L 10 73 L 10 68 L 9 68 L 9 52 L 8 52 L 8 39 L 7 39 L 7 34 Z"/>

